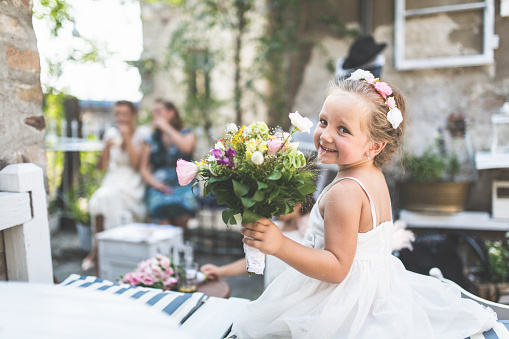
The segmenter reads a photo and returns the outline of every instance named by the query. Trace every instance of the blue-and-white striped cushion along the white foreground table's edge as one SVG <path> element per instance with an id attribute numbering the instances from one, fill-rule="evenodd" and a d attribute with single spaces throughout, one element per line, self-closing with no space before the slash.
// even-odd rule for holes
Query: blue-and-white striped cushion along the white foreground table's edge
<path id="1" fill-rule="evenodd" d="M 154 288 L 115 284 L 108 280 L 92 276 L 71 274 L 60 283 L 61 287 L 79 287 L 87 290 L 102 291 L 107 294 L 120 295 L 132 299 L 134 302 L 151 306 L 153 309 L 165 312 L 178 323 L 183 323 L 187 317 L 204 300 L 205 294 L 181 293 L 161 291 Z"/>

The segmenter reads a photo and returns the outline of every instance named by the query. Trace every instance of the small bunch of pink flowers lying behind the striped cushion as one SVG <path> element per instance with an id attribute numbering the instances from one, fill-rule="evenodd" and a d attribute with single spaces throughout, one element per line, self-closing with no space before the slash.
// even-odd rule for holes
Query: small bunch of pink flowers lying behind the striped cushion
<path id="1" fill-rule="evenodd" d="M 121 276 L 118 282 L 131 286 L 171 290 L 177 288 L 178 277 L 178 267 L 173 264 L 171 259 L 156 254 L 155 257 L 140 262 L 133 272 Z"/>

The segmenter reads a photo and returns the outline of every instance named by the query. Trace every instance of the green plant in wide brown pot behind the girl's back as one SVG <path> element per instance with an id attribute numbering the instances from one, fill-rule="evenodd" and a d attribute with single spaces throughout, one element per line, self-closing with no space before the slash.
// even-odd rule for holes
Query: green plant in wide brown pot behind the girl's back
<path id="1" fill-rule="evenodd" d="M 461 164 L 455 153 L 445 151 L 443 139 L 420 156 L 405 154 L 403 166 L 409 178 L 399 185 L 402 208 L 442 213 L 465 209 L 472 183 L 455 181 Z"/>

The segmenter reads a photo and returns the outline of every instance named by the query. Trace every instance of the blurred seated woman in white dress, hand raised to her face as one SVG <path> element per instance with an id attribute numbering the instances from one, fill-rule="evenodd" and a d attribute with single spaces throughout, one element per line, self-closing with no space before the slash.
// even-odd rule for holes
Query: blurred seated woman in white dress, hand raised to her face
<path id="1" fill-rule="evenodd" d="M 90 198 L 92 232 L 120 226 L 122 218 L 143 221 L 145 206 L 142 203 L 145 185 L 138 173 L 143 140 L 150 133 L 146 127 L 136 128 L 137 110 L 130 101 L 117 101 L 113 108 L 115 127 L 104 135 L 104 149 L 97 167 L 106 171 L 101 187 Z M 97 266 L 97 242 L 93 238 L 90 253 L 83 259 L 81 268 L 87 271 Z"/>

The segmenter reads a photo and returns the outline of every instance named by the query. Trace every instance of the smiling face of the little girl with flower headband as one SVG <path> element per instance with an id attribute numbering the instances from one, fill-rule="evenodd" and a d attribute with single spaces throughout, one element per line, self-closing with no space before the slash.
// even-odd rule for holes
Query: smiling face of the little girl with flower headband
<path id="1" fill-rule="evenodd" d="M 365 111 L 355 94 L 336 91 L 325 99 L 314 133 L 320 162 L 341 166 L 367 157 L 372 142 L 362 130 Z"/>

